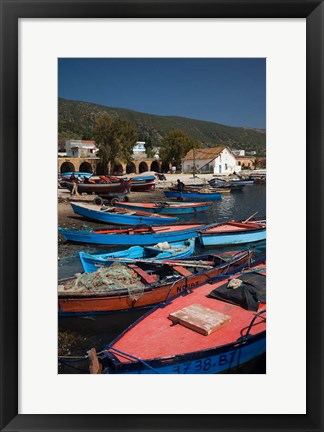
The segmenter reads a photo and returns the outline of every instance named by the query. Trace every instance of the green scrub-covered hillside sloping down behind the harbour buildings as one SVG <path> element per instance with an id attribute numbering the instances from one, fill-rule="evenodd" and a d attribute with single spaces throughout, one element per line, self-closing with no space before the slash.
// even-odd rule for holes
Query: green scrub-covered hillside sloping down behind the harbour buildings
<path id="1" fill-rule="evenodd" d="M 91 139 L 96 117 L 103 112 L 120 116 L 136 124 L 140 141 L 150 137 L 155 146 L 173 129 L 184 130 L 190 138 L 203 142 L 204 147 L 226 145 L 232 149 L 255 150 L 265 155 L 265 130 L 225 126 L 218 123 L 176 116 L 158 116 L 124 108 L 111 108 L 89 102 L 58 99 L 59 143 L 66 139 Z"/>

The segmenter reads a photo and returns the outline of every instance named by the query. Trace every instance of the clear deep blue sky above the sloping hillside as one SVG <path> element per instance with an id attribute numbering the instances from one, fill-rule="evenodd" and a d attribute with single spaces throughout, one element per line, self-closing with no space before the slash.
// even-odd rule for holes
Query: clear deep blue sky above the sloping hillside
<path id="1" fill-rule="evenodd" d="M 266 60 L 66 58 L 58 95 L 158 115 L 266 127 Z"/>

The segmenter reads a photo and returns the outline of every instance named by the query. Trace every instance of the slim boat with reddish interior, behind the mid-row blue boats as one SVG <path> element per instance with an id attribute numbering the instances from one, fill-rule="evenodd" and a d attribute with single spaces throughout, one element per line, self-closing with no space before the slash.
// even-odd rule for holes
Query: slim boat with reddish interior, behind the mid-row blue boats
<path id="1" fill-rule="evenodd" d="M 211 201 L 196 203 L 177 203 L 177 202 L 153 202 L 153 203 L 133 203 L 116 202 L 117 207 L 129 208 L 134 210 L 147 210 L 159 214 L 189 214 L 209 210 L 213 205 Z"/>

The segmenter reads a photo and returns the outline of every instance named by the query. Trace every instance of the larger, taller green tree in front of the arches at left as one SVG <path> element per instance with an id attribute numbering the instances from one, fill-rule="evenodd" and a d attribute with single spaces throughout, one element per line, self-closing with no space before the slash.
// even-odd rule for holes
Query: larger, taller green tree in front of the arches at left
<path id="1" fill-rule="evenodd" d="M 103 113 L 96 120 L 93 136 L 103 166 L 109 164 L 112 170 L 117 161 L 131 161 L 133 147 L 138 139 L 138 131 L 133 123 L 120 118 L 112 119 L 109 114 Z"/>

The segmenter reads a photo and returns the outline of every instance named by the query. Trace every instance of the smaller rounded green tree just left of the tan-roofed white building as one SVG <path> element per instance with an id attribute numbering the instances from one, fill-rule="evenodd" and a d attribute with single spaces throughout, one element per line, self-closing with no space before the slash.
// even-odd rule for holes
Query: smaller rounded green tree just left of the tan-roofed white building
<path id="1" fill-rule="evenodd" d="M 164 136 L 160 150 L 160 157 L 165 164 L 172 164 L 176 167 L 181 166 L 181 159 L 193 148 L 200 147 L 198 140 L 192 140 L 188 135 L 175 129 Z"/>

